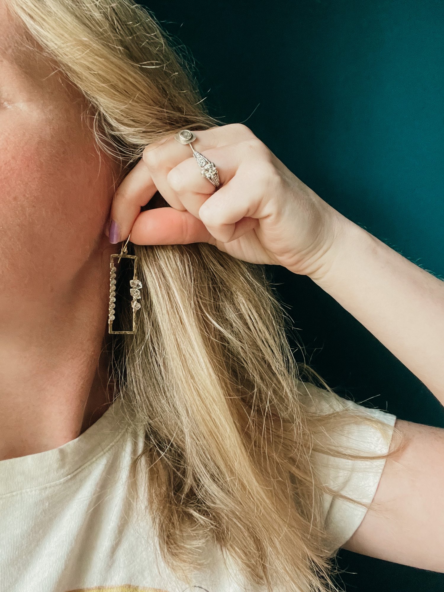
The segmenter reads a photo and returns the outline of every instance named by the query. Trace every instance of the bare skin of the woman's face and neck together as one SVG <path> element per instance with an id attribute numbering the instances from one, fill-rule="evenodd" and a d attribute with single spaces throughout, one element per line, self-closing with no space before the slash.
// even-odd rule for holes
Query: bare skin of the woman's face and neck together
<path id="1" fill-rule="evenodd" d="M 70 442 L 110 404 L 102 346 L 116 246 L 104 226 L 120 176 L 95 146 L 88 101 L 6 7 L 0 0 L 0 461 Z"/>

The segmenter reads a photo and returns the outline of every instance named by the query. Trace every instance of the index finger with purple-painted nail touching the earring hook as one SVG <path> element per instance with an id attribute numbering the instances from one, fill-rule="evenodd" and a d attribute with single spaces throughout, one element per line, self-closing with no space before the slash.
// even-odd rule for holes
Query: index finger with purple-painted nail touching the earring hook
<path id="1" fill-rule="evenodd" d="M 123 240 L 122 231 L 116 220 L 131 220 L 131 224 L 140 214 L 140 208 L 146 205 L 157 191 L 149 169 L 140 159 L 136 166 L 123 179 L 112 198 L 110 227 L 107 236 L 110 243 Z M 128 233 L 127 233 L 128 235 Z"/>

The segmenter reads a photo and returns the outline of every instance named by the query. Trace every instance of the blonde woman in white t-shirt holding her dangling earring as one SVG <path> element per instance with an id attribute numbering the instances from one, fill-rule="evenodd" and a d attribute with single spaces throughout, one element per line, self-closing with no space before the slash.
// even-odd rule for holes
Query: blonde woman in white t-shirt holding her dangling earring
<path id="1" fill-rule="evenodd" d="M 442 282 L 211 118 L 130 0 L 0 0 L 0 55 L 2 589 L 325 592 L 341 546 L 444 571 L 443 431 L 298 369 L 261 266 L 441 402 Z"/>

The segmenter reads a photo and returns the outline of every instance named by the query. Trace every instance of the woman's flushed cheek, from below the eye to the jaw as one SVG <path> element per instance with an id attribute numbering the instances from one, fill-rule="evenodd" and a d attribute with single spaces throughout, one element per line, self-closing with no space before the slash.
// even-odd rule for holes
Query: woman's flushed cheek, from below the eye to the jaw
<path id="1" fill-rule="evenodd" d="M 69 281 L 102 240 L 112 167 L 80 131 L 21 131 L 16 121 L 0 135 L 0 253 L 14 259 L 8 274 L 41 291 Z"/>

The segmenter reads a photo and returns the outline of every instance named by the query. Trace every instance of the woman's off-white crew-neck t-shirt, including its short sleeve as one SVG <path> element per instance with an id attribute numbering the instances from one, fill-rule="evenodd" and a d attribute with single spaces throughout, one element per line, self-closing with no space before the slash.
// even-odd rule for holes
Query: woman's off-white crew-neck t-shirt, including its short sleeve
<path id="1" fill-rule="evenodd" d="M 356 403 L 346 402 L 351 406 Z M 394 425 L 396 417 L 367 410 Z M 120 400 L 88 430 L 59 448 L 0 461 L 0 592 L 240 592 L 233 564 L 208 549 L 210 564 L 189 588 L 162 562 L 147 513 L 128 495 L 128 469 L 143 434 L 118 425 Z M 357 429 L 356 429 L 357 430 Z M 372 453 L 389 444 L 370 427 L 350 432 L 356 448 Z M 385 459 L 331 459 L 324 482 L 363 501 L 374 497 Z M 369 466 L 371 465 L 371 466 Z M 338 481 L 339 479 L 339 481 Z M 355 504 L 325 498 L 338 547 L 365 514 Z M 230 567 L 231 565 L 231 567 Z"/>

